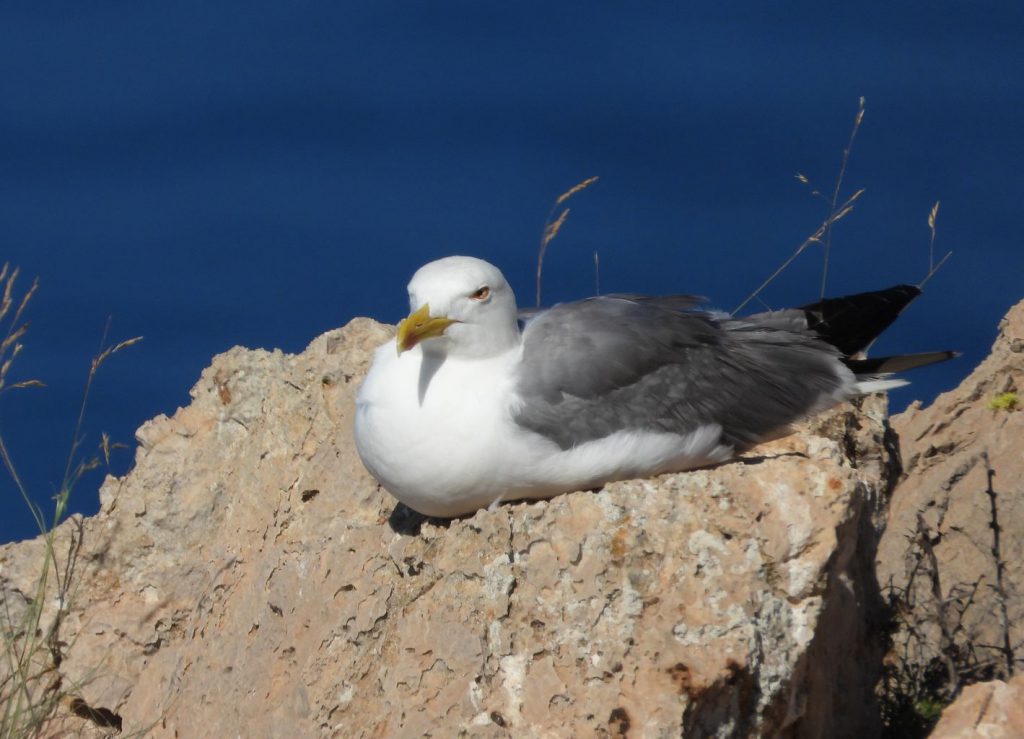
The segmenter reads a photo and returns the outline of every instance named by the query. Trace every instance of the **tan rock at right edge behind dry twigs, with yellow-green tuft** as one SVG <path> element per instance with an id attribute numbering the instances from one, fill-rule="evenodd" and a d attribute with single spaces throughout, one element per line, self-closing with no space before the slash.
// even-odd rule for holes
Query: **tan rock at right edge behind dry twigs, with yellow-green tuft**
<path id="1" fill-rule="evenodd" d="M 1004 393 L 1017 393 L 1017 406 L 990 407 Z M 903 479 L 879 547 L 878 581 L 902 594 L 911 610 L 901 616 L 889 659 L 911 669 L 941 659 L 950 638 L 943 637 L 944 619 L 953 642 L 944 651 L 974 665 L 964 679 L 1010 676 L 1007 644 L 1016 670 L 1024 669 L 1024 302 L 1010 310 L 991 354 L 959 387 L 928 408 L 912 404 L 892 425 Z M 1005 598 L 993 553 L 993 493 Z M 943 616 L 931 558 L 919 544 L 919 516 L 938 565 Z"/>

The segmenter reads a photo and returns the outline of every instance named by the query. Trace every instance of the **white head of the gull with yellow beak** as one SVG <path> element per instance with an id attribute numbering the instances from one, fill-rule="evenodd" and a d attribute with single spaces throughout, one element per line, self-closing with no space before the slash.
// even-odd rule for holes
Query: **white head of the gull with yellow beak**
<path id="1" fill-rule="evenodd" d="M 425 264 L 409 282 L 410 315 L 398 323 L 398 353 L 492 356 L 519 341 L 515 295 L 498 267 L 475 257 Z"/>

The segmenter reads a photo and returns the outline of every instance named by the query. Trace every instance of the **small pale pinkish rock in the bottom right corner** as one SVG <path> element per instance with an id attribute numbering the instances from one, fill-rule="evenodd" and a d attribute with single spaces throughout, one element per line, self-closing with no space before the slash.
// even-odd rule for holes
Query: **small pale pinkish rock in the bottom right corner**
<path id="1" fill-rule="evenodd" d="M 964 689 L 942 711 L 931 739 L 1020 739 L 1024 736 L 1024 675 Z"/>

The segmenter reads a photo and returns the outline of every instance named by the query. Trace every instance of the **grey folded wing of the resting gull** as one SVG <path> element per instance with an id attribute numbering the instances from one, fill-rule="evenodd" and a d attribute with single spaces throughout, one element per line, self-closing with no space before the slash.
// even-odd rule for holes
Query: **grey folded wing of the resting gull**
<path id="1" fill-rule="evenodd" d="M 624 429 L 718 424 L 741 448 L 844 383 L 839 352 L 811 332 L 680 309 L 689 305 L 605 296 L 536 315 L 523 333 L 516 422 L 562 448 Z"/>

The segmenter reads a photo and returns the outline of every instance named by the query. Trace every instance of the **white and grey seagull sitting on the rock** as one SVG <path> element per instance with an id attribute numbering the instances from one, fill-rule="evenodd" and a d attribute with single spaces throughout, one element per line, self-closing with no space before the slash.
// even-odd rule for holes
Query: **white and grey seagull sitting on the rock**
<path id="1" fill-rule="evenodd" d="M 421 267 L 410 315 L 356 397 L 364 465 L 452 518 L 726 462 L 846 399 L 948 359 L 868 359 L 910 286 L 734 317 L 689 296 L 606 295 L 520 314 L 474 257 Z"/>

